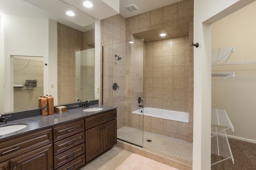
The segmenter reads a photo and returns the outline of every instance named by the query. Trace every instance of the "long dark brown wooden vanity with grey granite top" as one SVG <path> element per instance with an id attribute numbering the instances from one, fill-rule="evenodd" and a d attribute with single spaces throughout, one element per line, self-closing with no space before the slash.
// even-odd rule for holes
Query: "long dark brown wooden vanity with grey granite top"
<path id="1" fill-rule="evenodd" d="M 0 170 L 79 169 L 117 142 L 116 108 L 101 107 L 8 122 L 28 126 L 0 138 Z"/>

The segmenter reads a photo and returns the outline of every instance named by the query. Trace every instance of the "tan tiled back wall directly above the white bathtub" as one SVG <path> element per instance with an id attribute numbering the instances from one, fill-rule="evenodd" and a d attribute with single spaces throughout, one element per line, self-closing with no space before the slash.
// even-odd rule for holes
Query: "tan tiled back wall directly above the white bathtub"
<path id="1" fill-rule="evenodd" d="M 189 36 L 146 42 L 146 107 L 189 112 L 189 48 Z"/>

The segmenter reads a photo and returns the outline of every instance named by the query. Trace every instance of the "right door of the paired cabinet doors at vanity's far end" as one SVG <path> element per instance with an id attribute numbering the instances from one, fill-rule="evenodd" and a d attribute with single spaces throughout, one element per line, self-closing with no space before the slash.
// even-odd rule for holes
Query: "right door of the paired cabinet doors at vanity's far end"
<path id="1" fill-rule="evenodd" d="M 116 144 L 116 127 L 116 119 L 104 124 L 104 151 Z"/>

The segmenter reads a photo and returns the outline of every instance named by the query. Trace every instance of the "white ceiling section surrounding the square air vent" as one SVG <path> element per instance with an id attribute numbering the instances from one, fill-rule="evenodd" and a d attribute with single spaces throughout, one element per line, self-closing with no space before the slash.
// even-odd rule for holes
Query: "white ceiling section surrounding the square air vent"
<path id="1" fill-rule="evenodd" d="M 120 14 L 123 17 L 128 18 L 172 3 L 177 3 L 178 1 L 181 0 L 120 0 Z M 136 5 L 139 9 L 133 12 L 126 10 L 125 6 L 131 4 Z"/>

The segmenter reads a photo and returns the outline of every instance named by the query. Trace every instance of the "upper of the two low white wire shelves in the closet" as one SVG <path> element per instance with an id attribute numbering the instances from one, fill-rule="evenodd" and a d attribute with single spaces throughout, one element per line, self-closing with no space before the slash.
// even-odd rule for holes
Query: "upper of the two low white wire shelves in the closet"
<path id="1" fill-rule="evenodd" d="M 221 131 L 218 131 L 218 133 L 216 133 L 217 131 L 215 127 L 221 128 Z M 230 128 L 234 132 L 235 129 L 229 117 L 227 116 L 227 112 L 222 109 L 212 109 L 212 136 L 222 133 L 223 131 Z"/>

